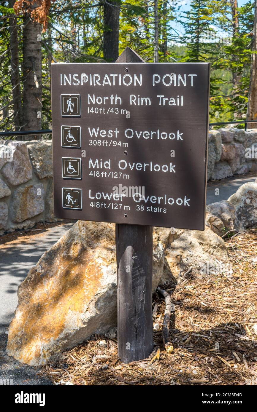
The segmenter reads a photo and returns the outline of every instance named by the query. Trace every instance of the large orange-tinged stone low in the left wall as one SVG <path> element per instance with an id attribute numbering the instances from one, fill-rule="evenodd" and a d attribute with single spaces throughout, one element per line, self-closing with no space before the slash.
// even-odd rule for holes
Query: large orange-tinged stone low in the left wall
<path id="1" fill-rule="evenodd" d="M 11 218 L 19 223 L 44 211 L 45 190 L 42 183 L 18 187 L 12 194 Z"/>

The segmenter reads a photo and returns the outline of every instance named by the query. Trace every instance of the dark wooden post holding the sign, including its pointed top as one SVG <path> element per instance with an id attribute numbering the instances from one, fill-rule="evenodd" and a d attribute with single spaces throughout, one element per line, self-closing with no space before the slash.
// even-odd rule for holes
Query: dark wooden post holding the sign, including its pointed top
<path id="1" fill-rule="evenodd" d="M 144 62 L 126 47 L 116 63 Z M 124 363 L 153 351 L 153 228 L 116 224 L 118 356 Z"/>

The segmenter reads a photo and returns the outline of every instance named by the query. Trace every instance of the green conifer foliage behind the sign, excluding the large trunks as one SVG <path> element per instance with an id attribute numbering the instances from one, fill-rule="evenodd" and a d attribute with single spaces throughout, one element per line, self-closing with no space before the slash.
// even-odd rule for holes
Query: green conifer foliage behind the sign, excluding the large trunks
<path id="1" fill-rule="evenodd" d="M 120 0 L 119 50 L 126 46 L 153 61 L 154 4 L 149 0 Z M 160 62 L 210 62 L 210 122 L 244 118 L 248 102 L 254 1 L 237 9 L 238 30 L 233 32 L 230 0 L 158 0 Z M 56 0 L 49 25 L 42 34 L 42 128 L 51 128 L 51 62 L 102 62 L 104 0 Z M 0 129 L 14 130 L 10 81 L 8 2 L 0 5 Z M 19 71 L 22 79 L 22 16 L 18 16 Z M 183 27 L 179 33 L 174 23 Z M 219 41 L 223 33 L 229 42 Z M 236 80 L 235 80 L 236 79 Z M 243 125 L 242 125 L 243 127 Z"/>

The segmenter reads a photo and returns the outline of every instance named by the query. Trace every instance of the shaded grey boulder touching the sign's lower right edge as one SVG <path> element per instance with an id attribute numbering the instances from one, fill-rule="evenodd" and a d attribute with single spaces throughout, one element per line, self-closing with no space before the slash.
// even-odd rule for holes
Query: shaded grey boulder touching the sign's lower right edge
<path id="1" fill-rule="evenodd" d="M 219 236 L 224 234 L 223 229 L 237 230 L 240 228 L 236 217 L 236 208 L 227 200 L 207 205 L 206 212 L 206 225 Z M 216 219 L 214 217 L 216 217 Z"/>

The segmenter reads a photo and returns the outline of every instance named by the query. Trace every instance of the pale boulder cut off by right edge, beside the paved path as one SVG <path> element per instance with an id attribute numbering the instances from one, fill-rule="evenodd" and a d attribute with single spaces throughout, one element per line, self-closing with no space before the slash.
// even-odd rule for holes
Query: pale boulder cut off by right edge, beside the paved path
<path id="1" fill-rule="evenodd" d="M 244 227 L 257 226 L 257 183 L 240 186 L 228 199 L 236 209 L 236 216 Z"/>

